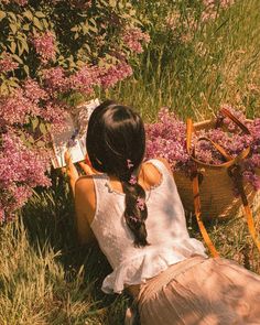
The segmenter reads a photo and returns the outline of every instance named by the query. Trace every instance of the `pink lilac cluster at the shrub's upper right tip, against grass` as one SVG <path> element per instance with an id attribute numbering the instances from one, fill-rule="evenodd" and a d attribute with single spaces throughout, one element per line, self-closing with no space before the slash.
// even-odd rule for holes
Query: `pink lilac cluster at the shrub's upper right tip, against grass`
<path id="1" fill-rule="evenodd" d="M 139 28 L 132 28 L 124 32 L 122 40 L 128 48 L 136 53 L 142 53 L 143 48 L 141 42 L 149 43 L 150 36 L 143 33 Z"/>

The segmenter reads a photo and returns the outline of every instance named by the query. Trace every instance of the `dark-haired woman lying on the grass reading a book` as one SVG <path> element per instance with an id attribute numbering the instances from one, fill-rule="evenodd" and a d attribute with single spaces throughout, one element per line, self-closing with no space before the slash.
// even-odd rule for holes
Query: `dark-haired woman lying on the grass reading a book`
<path id="1" fill-rule="evenodd" d="M 96 237 L 113 269 L 102 290 L 128 290 L 142 325 L 260 324 L 260 278 L 189 238 L 169 163 L 143 162 L 144 149 L 140 116 L 106 101 L 89 119 L 87 175 L 66 156 L 78 237 Z"/>

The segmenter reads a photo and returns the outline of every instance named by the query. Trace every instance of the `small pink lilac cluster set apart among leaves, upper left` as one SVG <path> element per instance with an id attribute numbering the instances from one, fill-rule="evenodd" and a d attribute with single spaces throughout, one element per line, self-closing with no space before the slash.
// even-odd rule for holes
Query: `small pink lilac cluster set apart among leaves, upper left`
<path id="1" fill-rule="evenodd" d="M 55 37 L 51 32 L 34 34 L 32 39 L 32 44 L 43 63 L 55 58 Z"/>

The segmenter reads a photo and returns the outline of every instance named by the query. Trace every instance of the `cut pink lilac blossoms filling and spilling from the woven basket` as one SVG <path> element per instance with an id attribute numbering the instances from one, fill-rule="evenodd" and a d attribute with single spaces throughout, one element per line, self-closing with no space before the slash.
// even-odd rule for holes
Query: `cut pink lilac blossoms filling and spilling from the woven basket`
<path id="1" fill-rule="evenodd" d="M 250 134 L 245 134 L 232 121 L 218 115 L 218 119 L 224 121 L 226 128 L 216 128 L 209 130 L 199 130 L 193 134 L 193 149 L 195 156 L 206 164 L 218 165 L 225 162 L 224 156 L 213 147 L 209 141 L 201 140 L 207 138 L 221 145 L 232 158 L 236 158 L 245 149 L 250 147 L 250 155 L 242 162 L 242 173 L 256 189 L 260 189 L 260 176 L 256 170 L 260 169 L 260 119 L 252 122 L 246 120 L 241 111 L 236 111 L 229 106 L 224 106 L 243 122 Z M 147 158 L 161 156 L 169 160 L 172 170 L 184 170 L 188 172 L 192 160 L 186 150 L 186 126 L 177 117 L 162 109 L 159 115 L 159 121 L 153 124 L 147 124 Z"/>

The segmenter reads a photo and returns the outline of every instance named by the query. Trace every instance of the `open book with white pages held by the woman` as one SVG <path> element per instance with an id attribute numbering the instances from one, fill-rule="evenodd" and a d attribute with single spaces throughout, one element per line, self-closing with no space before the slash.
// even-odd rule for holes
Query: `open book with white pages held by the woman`
<path id="1" fill-rule="evenodd" d="M 64 160 L 64 153 L 66 151 L 71 153 L 73 163 L 85 160 L 88 120 L 99 104 L 99 100 L 96 98 L 74 108 L 67 118 L 65 131 L 53 136 L 54 156 L 52 164 L 54 169 L 66 165 Z"/>

